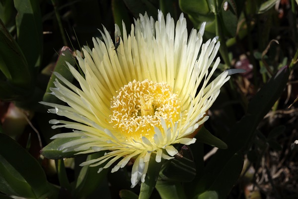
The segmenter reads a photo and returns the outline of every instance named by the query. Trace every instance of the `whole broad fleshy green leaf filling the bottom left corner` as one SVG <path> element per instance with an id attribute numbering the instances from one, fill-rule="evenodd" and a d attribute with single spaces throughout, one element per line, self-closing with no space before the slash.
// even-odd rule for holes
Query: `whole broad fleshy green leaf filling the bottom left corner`
<path id="1" fill-rule="evenodd" d="M 47 182 L 46 175 L 36 159 L 13 139 L 2 133 L 0 151 L 2 159 L 0 178 L 1 184 L 5 185 L 1 187 L 1 192 L 38 199 L 53 196 L 54 187 Z"/>

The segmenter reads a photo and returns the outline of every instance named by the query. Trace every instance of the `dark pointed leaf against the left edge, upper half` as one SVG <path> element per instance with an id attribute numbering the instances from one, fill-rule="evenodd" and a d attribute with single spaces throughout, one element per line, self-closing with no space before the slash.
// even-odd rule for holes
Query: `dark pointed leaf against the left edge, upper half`
<path id="1" fill-rule="evenodd" d="M 26 59 L 0 20 L 0 100 L 24 100 L 32 92 Z"/>

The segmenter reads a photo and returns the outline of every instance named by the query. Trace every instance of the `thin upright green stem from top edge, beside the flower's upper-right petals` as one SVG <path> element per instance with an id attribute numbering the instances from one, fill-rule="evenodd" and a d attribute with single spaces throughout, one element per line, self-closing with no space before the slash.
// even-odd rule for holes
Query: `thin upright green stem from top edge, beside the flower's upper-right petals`
<path id="1" fill-rule="evenodd" d="M 221 23 L 221 19 L 219 16 L 219 12 L 218 12 L 218 0 L 214 0 L 214 5 L 215 5 L 215 28 L 216 28 L 216 35 L 219 36 L 219 41 L 221 42 L 221 47 L 220 47 L 220 53 L 224 59 L 224 63 L 225 65 L 228 67 L 228 69 L 231 67 L 231 63 L 229 61 L 228 58 L 228 54 L 227 54 L 227 47 L 226 47 L 226 41 L 225 41 L 225 37 L 224 37 L 224 32 L 223 32 L 223 27 L 222 27 L 222 23 Z"/>

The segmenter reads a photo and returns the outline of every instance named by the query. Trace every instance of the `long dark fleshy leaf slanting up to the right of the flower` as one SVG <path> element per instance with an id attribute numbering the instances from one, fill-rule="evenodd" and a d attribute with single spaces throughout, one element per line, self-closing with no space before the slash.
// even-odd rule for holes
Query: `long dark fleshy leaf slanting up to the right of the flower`
<path id="1" fill-rule="evenodd" d="M 284 67 L 249 102 L 247 114 L 234 125 L 226 138 L 228 149 L 219 149 L 204 169 L 204 176 L 195 188 L 198 196 L 208 191 L 216 191 L 221 193 L 220 198 L 226 198 L 242 168 L 240 162 L 242 156 L 237 154 L 249 147 L 248 143 L 254 137 L 257 125 L 283 92 L 288 78 L 289 68 Z M 231 172 L 233 176 L 227 177 L 224 174 L 227 168 L 233 170 Z M 238 174 L 235 171 L 238 171 Z"/>

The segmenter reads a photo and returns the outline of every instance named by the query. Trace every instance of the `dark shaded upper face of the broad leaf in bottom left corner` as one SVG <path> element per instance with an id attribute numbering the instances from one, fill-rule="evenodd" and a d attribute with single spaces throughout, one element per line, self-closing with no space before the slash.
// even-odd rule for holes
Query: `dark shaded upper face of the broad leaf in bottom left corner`
<path id="1" fill-rule="evenodd" d="M 30 185 L 36 198 L 46 198 L 53 194 L 37 160 L 5 134 L 0 134 L 0 154 Z"/>

